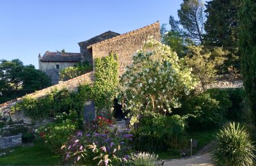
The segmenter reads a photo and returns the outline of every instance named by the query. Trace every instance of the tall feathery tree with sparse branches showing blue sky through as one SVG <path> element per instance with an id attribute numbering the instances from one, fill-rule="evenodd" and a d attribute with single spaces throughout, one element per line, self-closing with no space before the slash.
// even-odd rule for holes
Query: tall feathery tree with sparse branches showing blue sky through
<path id="1" fill-rule="evenodd" d="M 183 27 L 183 33 L 185 36 L 195 41 L 196 43 L 203 42 L 204 34 L 204 1 L 202 0 L 184 0 L 180 4 L 180 10 L 178 10 L 179 24 Z M 172 20 L 170 22 L 173 25 L 177 25 L 177 21 Z M 179 26 L 173 26 L 175 29 L 179 29 Z"/>

